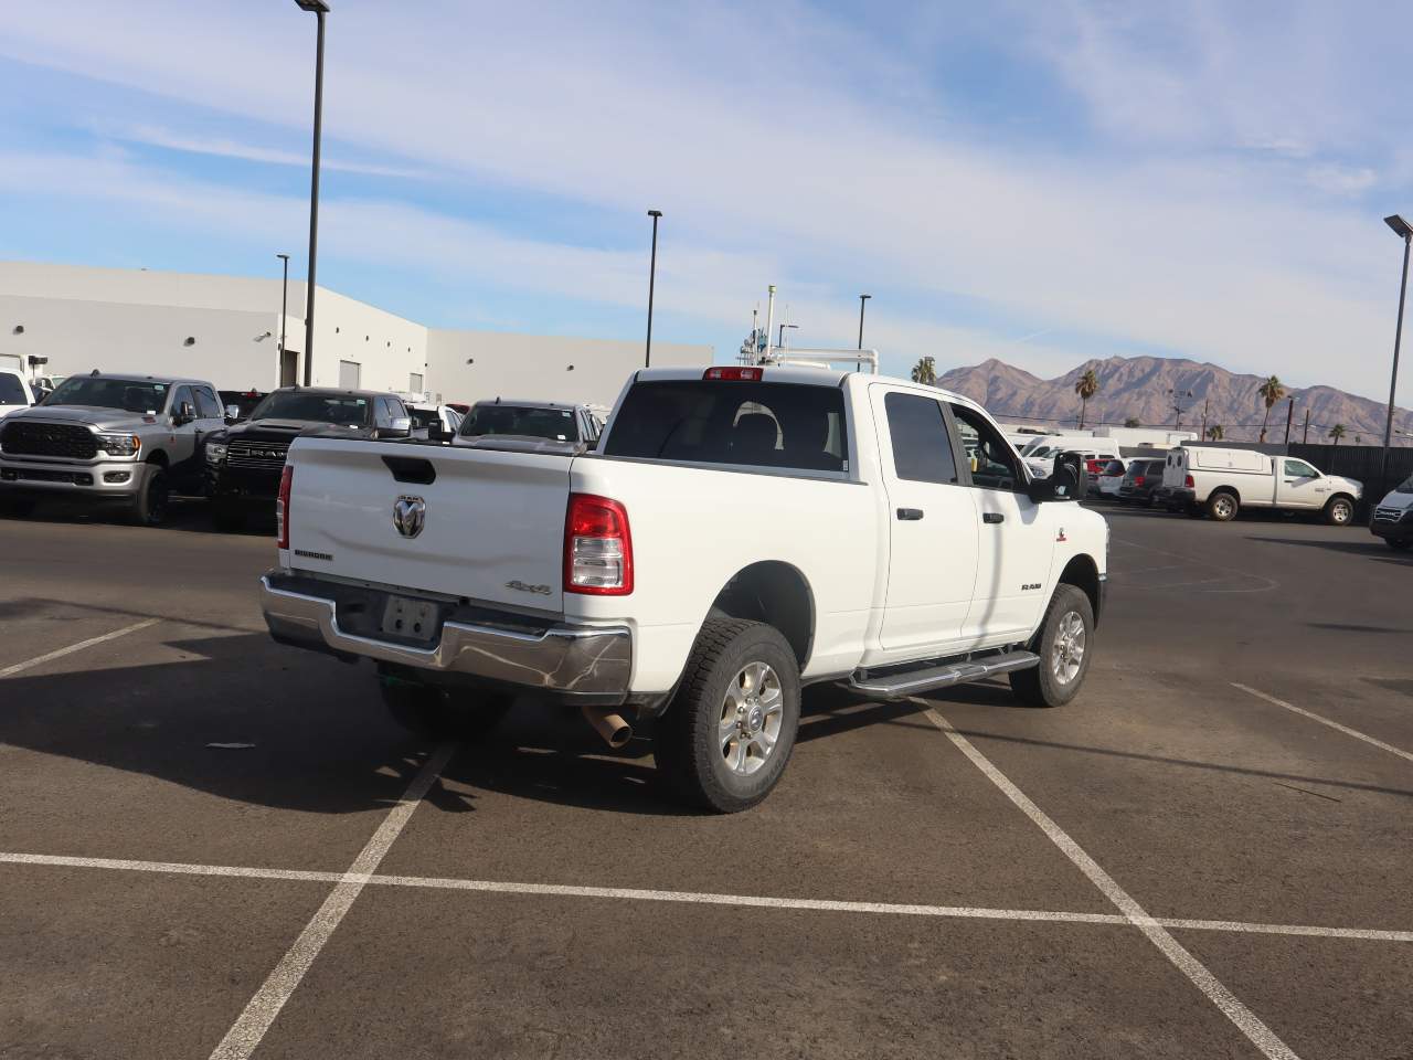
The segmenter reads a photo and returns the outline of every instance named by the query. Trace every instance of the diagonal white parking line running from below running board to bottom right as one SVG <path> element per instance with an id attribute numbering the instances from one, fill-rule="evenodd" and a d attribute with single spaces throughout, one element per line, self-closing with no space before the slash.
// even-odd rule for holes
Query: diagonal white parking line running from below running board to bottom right
<path id="1" fill-rule="evenodd" d="M 914 700 L 914 702 L 927 707 L 927 704 L 920 700 Z M 1276 1036 L 1276 1032 L 1267 1027 L 1255 1012 L 1246 1008 L 1236 998 L 1236 995 L 1226 989 L 1221 979 L 1208 971 L 1207 965 L 1193 957 L 1193 954 L 1190 954 L 1181 943 L 1167 933 L 1167 929 L 1149 916 L 1143 906 L 1140 906 L 1129 895 L 1129 892 L 1121 888 L 1113 876 L 1105 872 L 1094 858 L 1085 854 L 1084 848 L 1071 840 L 1068 832 L 1065 832 L 1058 824 L 1050 820 L 1044 810 L 1030 801 L 1024 791 L 1010 783 L 1010 779 L 996 769 L 996 766 L 991 763 L 991 759 L 976 750 L 969 739 L 954 729 L 947 718 L 931 707 L 927 707 L 923 712 L 947 735 L 958 750 L 971 759 L 971 763 L 976 766 L 976 769 L 986 775 L 988 780 L 999 787 L 1002 793 L 1020 808 L 1022 813 L 1036 823 L 1040 831 L 1043 831 L 1050 841 L 1058 847 L 1071 862 L 1074 862 L 1075 868 L 1089 878 L 1089 882 L 1094 883 L 1094 886 L 1096 886 L 1104 896 L 1119 909 L 1121 913 L 1123 913 L 1130 924 L 1147 936 L 1147 940 L 1153 943 L 1153 946 L 1156 946 L 1169 961 L 1173 962 L 1173 967 L 1181 971 L 1183 975 L 1186 975 L 1193 985 L 1197 987 L 1197 989 L 1207 995 L 1208 1001 L 1221 1009 L 1226 1019 L 1235 1023 L 1236 1027 L 1248 1039 L 1251 1039 L 1251 1043 L 1256 1046 L 1262 1054 L 1269 1057 L 1269 1060 L 1299 1060 L 1290 1046 Z"/>

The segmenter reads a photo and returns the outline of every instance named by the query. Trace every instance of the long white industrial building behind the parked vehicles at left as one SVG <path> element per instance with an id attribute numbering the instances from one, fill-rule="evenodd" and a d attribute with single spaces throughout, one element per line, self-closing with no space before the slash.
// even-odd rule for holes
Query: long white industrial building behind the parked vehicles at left
<path id="1" fill-rule="evenodd" d="M 290 280 L 285 319 L 281 285 L 278 277 L 0 261 L 0 366 L 182 375 L 220 390 L 302 382 L 305 285 Z M 315 386 L 608 406 L 643 365 L 637 341 L 428 328 L 325 287 L 314 321 Z M 711 346 L 653 343 L 654 365 L 711 360 Z"/>

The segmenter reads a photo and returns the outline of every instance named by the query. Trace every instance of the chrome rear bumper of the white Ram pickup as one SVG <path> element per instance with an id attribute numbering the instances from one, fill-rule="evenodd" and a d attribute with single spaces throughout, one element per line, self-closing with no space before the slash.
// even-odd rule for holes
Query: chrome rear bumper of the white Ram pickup
<path id="1" fill-rule="evenodd" d="M 414 647 L 348 633 L 339 629 L 332 599 L 276 588 L 268 575 L 260 578 L 260 608 L 270 635 L 285 644 L 526 690 L 622 695 L 633 671 L 633 633 L 626 626 L 552 625 L 521 632 L 447 620 L 435 644 Z"/>

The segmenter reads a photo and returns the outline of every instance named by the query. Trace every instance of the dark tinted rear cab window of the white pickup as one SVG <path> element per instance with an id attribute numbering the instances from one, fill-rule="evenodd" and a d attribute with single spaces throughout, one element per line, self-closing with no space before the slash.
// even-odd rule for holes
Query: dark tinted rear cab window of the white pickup
<path id="1" fill-rule="evenodd" d="M 844 391 L 764 380 L 644 380 L 629 389 L 601 449 L 677 464 L 846 473 Z"/>

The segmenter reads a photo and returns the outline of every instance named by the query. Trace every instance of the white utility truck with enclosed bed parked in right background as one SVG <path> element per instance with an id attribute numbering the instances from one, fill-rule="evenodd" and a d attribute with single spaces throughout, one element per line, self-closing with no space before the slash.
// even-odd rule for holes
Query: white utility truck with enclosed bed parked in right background
<path id="1" fill-rule="evenodd" d="M 1332 526 L 1348 526 L 1364 485 L 1342 475 L 1325 475 L 1296 457 L 1272 457 L 1256 449 L 1181 445 L 1167 454 L 1163 493 L 1170 512 L 1204 512 L 1219 523 L 1242 507 L 1320 512 Z"/>

